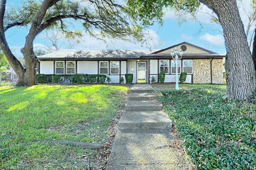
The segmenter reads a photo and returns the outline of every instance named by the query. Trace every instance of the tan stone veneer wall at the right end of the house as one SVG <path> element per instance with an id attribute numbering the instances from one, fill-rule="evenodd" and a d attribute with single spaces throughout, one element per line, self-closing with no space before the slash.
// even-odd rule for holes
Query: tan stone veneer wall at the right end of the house
<path id="1" fill-rule="evenodd" d="M 212 60 L 212 83 L 223 84 L 223 60 Z M 211 59 L 193 60 L 193 83 L 210 84 L 211 83 Z"/>

